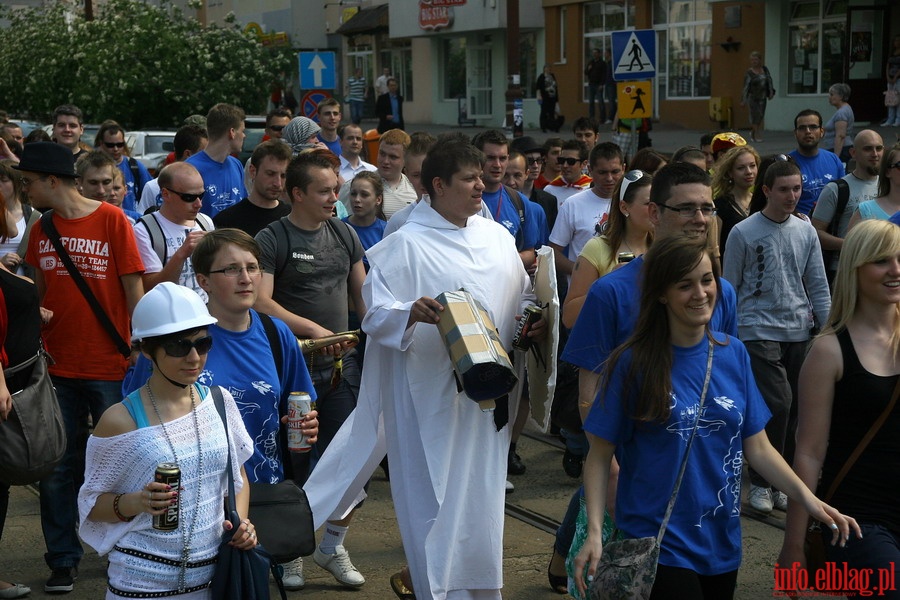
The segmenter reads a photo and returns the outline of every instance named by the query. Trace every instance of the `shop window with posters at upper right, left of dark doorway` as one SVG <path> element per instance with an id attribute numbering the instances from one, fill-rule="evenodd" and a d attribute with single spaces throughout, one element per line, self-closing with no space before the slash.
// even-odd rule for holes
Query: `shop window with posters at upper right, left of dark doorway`
<path id="1" fill-rule="evenodd" d="M 788 24 L 788 93 L 826 94 L 843 81 L 846 0 L 791 2 Z"/>

